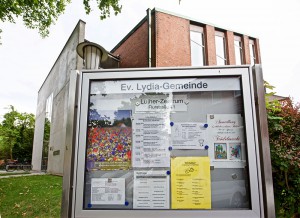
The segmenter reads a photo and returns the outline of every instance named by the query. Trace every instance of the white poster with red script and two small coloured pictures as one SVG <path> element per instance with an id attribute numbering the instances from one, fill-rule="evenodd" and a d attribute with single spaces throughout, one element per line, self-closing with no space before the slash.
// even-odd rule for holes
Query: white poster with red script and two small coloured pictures
<path id="1" fill-rule="evenodd" d="M 242 168 L 246 163 L 243 118 L 240 114 L 208 114 L 209 156 L 217 168 Z"/>

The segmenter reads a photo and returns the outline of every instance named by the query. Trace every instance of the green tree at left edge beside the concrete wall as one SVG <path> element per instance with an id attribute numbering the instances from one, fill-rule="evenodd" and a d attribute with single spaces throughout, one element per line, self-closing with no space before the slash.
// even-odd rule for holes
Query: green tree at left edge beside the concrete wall
<path id="1" fill-rule="evenodd" d="M 19 113 L 14 106 L 4 114 L 0 124 L 0 153 L 4 159 L 30 160 L 32 154 L 34 123 L 33 114 Z"/>

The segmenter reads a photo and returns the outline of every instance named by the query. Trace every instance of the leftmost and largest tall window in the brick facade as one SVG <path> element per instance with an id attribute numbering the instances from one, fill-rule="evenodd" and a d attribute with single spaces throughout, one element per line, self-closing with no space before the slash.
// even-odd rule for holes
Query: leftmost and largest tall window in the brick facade
<path id="1" fill-rule="evenodd" d="M 192 66 L 205 65 L 205 51 L 204 51 L 204 34 L 203 28 L 199 26 L 191 26 L 191 62 Z"/>

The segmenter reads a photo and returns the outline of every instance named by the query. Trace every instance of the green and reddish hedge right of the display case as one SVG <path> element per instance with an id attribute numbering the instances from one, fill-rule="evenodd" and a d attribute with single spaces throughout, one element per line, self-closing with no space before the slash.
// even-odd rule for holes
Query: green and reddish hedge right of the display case
<path id="1" fill-rule="evenodd" d="M 272 88 L 272 87 L 271 87 Z M 266 96 L 268 98 L 268 95 Z M 300 105 L 267 101 L 273 185 L 278 217 L 300 216 Z"/>

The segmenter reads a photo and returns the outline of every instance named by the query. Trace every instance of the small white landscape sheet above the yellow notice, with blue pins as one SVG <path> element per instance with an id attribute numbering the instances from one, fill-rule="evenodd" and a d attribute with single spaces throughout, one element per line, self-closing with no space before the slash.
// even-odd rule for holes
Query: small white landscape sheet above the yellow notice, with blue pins
<path id="1" fill-rule="evenodd" d="M 207 145 L 206 123 L 174 122 L 172 130 L 172 149 L 205 149 Z"/>

